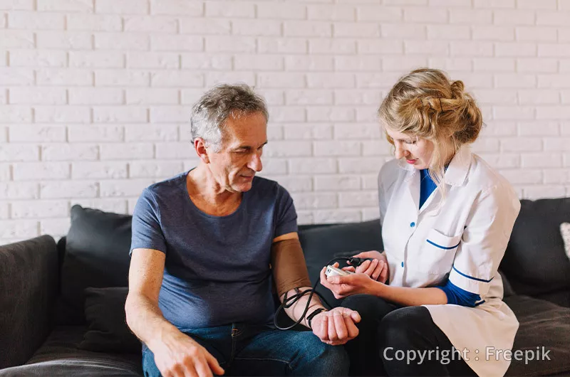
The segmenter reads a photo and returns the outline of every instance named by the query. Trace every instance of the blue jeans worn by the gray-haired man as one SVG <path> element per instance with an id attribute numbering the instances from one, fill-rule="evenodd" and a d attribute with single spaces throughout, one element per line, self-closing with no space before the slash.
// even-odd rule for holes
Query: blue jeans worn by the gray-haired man
<path id="1" fill-rule="evenodd" d="M 311 331 L 281 331 L 270 326 L 231 324 L 183 330 L 214 356 L 224 376 L 346 376 L 343 346 L 324 344 Z M 160 376 L 155 355 L 144 347 L 145 377 Z"/>

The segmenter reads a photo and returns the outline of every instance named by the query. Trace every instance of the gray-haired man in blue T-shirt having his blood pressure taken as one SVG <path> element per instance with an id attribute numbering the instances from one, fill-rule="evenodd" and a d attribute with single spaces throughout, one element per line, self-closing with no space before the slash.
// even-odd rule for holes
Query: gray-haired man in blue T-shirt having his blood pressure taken
<path id="1" fill-rule="evenodd" d="M 348 373 L 342 346 L 357 312 L 326 311 L 314 297 L 302 324 L 279 331 L 281 302 L 311 283 L 289 193 L 261 171 L 264 100 L 247 85 L 220 85 L 192 110 L 195 169 L 153 184 L 133 214 L 130 329 L 143 343 L 145 376 Z M 301 319 L 309 297 L 286 309 Z"/>

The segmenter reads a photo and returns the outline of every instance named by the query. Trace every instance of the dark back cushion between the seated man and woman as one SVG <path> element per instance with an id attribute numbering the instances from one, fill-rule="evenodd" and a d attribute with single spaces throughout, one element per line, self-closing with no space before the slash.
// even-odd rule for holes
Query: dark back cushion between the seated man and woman
<path id="1" fill-rule="evenodd" d="M 299 230 L 299 240 L 311 282 L 315 284 L 319 280 L 322 268 L 333 257 L 348 257 L 360 251 L 384 250 L 381 233 L 378 219 Z M 323 295 L 328 304 L 338 306 L 338 300 L 330 290 L 319 284 L 316 291 Z"/>

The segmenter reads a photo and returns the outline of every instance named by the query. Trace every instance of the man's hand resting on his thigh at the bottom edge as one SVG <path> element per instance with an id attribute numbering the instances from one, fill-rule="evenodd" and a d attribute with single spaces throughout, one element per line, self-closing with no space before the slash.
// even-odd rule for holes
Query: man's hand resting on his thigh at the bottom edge
<path id="1" fill-rule="evenodd" d="M 212 354 L 177 329 L 162 341 L 152 344 L 150 351 L 155 354 L 156 366 L 164 377 L 212 377 L 213 374 L 224 374 L 224 369 Z"/>

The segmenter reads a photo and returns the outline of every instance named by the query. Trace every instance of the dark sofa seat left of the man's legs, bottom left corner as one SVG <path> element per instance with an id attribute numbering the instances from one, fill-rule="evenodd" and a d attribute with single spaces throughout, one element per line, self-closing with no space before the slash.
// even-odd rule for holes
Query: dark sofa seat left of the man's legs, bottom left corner
<path id="1" fill-rule="evenodd" d="M 23 366 L 0 370 L 14 376 L 142 376 L 141 355 L 83 351 L 78 344 L 84 326 L 57 326 L 36 354 Z"/>

